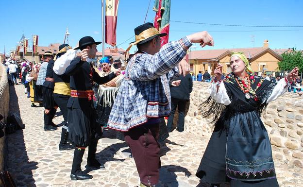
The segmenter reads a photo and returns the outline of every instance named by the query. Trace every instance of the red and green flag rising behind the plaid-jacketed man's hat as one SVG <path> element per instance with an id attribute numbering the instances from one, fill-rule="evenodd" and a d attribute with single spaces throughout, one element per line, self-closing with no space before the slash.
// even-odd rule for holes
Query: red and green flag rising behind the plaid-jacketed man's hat
<path id="1" fill-rule="evenodd" d="M 154 26 L 160 33 L 166 33 L 161 37 L 161 46 L 168 43 L 169 34 L 169 17 L 170 17 L 170 0 L 155 0 L 153 10 L 156 12 Z"/>

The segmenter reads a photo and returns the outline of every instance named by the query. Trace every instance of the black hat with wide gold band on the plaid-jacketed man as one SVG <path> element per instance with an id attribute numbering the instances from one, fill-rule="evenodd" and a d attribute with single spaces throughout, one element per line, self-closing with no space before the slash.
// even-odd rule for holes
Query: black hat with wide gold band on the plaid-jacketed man
<path id="1" fill-rule="evenodd" d="M 126 52 L 131 49 L 132 46 L 137 44 L 144 44 L 157 36 L 166 36 L 166 33 L 159 33 L 159 31 L 153 26 L 152 23 L 144 23 L 135 28 L 135 41 L 130 43 Z"/>

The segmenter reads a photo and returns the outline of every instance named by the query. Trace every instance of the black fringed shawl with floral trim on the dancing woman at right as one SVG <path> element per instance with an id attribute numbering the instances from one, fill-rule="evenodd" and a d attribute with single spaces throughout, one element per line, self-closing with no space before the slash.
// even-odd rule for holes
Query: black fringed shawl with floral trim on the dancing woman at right
<path id="1" fill-rule="evenodd" d="M 209 97 L 206 101 L 202 102 L 199 107 L 200 110 L 203 110 L 202 117 L 213 118 L 212 122 L 215 122 L 216 127 L 228 132 L 230 119 L 236 114 L 256 111 L 261 115 L 266 109 L 266 102 L 276 84 L 250 72 L 248 72 L 248 74 L 252 87 L 250 99 L 245 98 L 244 92 L 236 82 L 236 79 L 238 79 L 241 84 L 241 78 L 230 73 L 225 77 L 223 83 L 231 104 L 225 106 L 215 101 L 212 97 Z M 254 131 L 253 125 L 250 124 L 250 120 L 246 122 L 248 122 L 247 125 L 249 126 L 252 135 Z M 244 124 L 246 122 L 240 121 L 241 129 L 243 129 L 243 125 L 246 125 Z M 244 132 L 242 133 L 244 136 Z"/>

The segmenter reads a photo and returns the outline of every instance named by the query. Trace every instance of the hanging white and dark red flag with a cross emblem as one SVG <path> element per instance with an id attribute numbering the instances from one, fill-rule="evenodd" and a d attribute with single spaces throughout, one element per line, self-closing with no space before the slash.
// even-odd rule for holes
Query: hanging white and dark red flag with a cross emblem
<path id="1" fill-rule="evenodd" d="M 106 0 L 105 9 L 105 43 L 116 46 L 116 29 L 119 0 Z"/>

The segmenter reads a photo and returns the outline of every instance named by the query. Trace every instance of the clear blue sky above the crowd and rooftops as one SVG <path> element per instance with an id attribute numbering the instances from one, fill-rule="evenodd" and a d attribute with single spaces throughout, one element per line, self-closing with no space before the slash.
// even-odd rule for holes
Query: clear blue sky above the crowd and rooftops
<path id="1" fill-rule="evenodd" d="M 134 28 L 143 24 L 149 1 L 120 0 L 117 44 L 132 37 Z M 151 0 L 147 15 L 147 21 L 150 22 L 155 16 L 152 11 L 153 2 Z M 62 43 L 67 26 L 70 33 L 69 44 L 73 47 L 86 35 L 101 41 L 101 0 L 1 0 L 0 7 L 1 53 L 4 45 L 6 52 L 14 49 L 23 32 L 27 38 L 31 38 L 32 34 L 39 35 L 39 46 Z M 301 27 L 258 28 L 170 22 L 169 40 L 178 40 L 195 31 L 206 30 L 214 37 L 215 47 L 204 49 L 253 47 L 254 38 L 254 47 L 262 47 L 263 41 L 268 39 L 272 49 L 296 47 L 303 50 L 302 7 L 303 0 L 171 0 L 170 20 Z M 126 49 L 133 40 L 134 38 L 118 47 Z M 109 45 L 106 44 L 105 47 Z M 98 50 L 101 51 L 101 45 Z M 131 52 L 134 50 L 135 47 Z"/>

